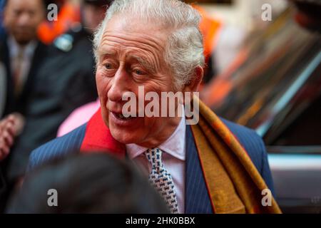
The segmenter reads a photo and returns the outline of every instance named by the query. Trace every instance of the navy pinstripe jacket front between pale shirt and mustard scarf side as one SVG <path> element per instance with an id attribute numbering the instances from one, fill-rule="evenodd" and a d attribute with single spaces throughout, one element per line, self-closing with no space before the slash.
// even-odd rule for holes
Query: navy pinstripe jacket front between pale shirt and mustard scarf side
<path id="1" fill-rule="evenodd" d="M 211 214 L 210 197 L 200 167 L 198 150 L 189 125 L 186 125 L 185 213 Z"/>

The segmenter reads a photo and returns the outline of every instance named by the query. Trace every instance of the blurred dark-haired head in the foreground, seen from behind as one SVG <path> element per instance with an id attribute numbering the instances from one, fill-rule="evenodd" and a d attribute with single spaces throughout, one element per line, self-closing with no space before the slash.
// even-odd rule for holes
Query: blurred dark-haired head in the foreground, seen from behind
<path id="1" fill-rule="evenodd" d="M 48 190 L 58 192 L 49 207 Z M 168 213 L 163 199 L 129 160 L 76 153 L 31 173 L 8 213 Z"/>

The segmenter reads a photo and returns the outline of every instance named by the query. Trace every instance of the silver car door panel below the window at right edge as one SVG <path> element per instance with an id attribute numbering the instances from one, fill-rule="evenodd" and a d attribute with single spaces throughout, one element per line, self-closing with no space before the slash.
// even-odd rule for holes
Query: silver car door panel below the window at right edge
<path id="1" fill-rule="evenodd" d="M 321 145 L 270 146 L 268 159 L 283 213 L 321 213 Z"/>

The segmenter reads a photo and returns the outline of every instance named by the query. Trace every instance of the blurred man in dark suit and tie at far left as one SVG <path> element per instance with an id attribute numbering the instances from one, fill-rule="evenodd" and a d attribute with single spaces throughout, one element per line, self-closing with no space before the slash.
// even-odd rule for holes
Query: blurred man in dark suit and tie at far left
<path id="1" fill-rule="evenodd" d="M 6 108 L 4 115 L 24 115 L 26 100 L 34 86 L 34 76 L 46 54 L 46 46 L 36 36 L 45 16 L 42 0 L 7 0 L 4 3 L 5 34 L 0 40 L 0 61 L 6 68 Z"/>

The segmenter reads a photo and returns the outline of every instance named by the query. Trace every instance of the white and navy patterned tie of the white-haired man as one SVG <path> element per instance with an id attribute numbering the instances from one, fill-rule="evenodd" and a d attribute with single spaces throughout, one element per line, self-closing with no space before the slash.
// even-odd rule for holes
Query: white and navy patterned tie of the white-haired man
<path id="1" fill-rule="evenodd" d="M 168 204 L 170 212 L 178 214 L 178 203 L 175 194 L 175 186 L 172 176 L 165 169 L 162 162 L 162 150 L 158 148 L 148 149 L 145 152 L 147 160 L 151 162 L 151 173 L 149 174 L 149 181 L 151 185 L 158 190 L 165 202 Z"/>

